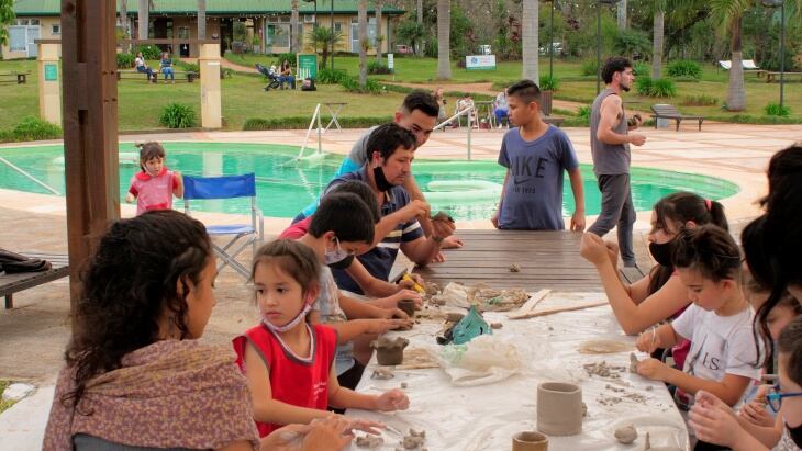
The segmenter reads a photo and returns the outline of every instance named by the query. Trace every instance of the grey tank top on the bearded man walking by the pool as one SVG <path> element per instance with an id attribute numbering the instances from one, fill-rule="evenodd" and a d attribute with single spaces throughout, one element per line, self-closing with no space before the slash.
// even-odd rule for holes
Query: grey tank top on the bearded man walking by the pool
<path id="1" fill-rule="evenodd" d="M 630 173 L 630 155 L 628 144 L 606 144 L 599 140 L 595 136 L 601 122 L 601 104 L 610 95 L 617 95 L 611 89 L 605 89 L 593 101 L 590 110 L 590 153 L 593 156 L 593 172 L 597 176 L 616 176 Z M 628 126 L 626 125 L 626 112 L 621 108 L 621 122 L 615 125 L 614 132 L 620 135 L 626 135 Z"/>

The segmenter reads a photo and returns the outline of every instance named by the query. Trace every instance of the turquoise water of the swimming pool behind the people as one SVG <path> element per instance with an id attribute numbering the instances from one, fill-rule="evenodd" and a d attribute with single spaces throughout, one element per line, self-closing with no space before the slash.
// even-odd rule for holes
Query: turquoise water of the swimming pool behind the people
<path id="1" fill-rule="evenodd" d="M 318 198 L 343 159 L 341 155 L 293 161 L 299 148 L 286 145 L 234 143 L 164 143 L 167 166 L 189 176 L 220 176 L 255 172 L 258 203 L 266 216 L 293 217 Z M 131 177 L 138 170 L 136 148 L 120 145 L 120 193 L 124 198 Z M 0 148 L 0 157 L 64 193 L 64 149 L 60 145 Z M 504 168 L 495 161 L 415 160 L 415 178 L 430 192 L 433 211 L 446 211 L 457 219 L 490 218 L 495 211 Z M 589 165 L 582 165 L 588 215 L 599 214 L 600 193 Z M 706 199 L 728 198 L 738 187 L 706 176 L 633 168 L 635 210 L 648 211 L 654 203 L 676 191 L 691 191 Z M 444 183 L 445 182 L 445 183 Z M 431 184 L 430 184 L 431 183 Z M 446 187 L 437 187 L 446 184 Z M 573 212 L 573 195 L 565 179 L 562 212 Z M 0 162 L 0 188 L 49 193 L 44 188 Z M 450 190 L 432 193 L 436 189 Z M 193 201 L 194 202 L 194 201 Z M 203 201 L 192 208 L 244 213 L 247 201 Z"/>

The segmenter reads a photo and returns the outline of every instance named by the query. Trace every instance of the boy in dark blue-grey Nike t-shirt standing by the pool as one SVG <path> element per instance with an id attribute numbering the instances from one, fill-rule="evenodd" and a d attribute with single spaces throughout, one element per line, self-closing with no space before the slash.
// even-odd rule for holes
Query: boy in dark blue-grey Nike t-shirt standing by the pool
<path id="1" fill-rule="evenodd" d="M 575 210 L 570 229 L 584 229 L 584 189 L 579 160 L 565 132 L 541 117 L 541 90 L 531 80 L 509 88 L 516 126 L 501 142 L 499 165 L 506 168 L 499 206 L 491 217 L 502 229 L 561 230 L 562 179 L 568 172 Z"/>

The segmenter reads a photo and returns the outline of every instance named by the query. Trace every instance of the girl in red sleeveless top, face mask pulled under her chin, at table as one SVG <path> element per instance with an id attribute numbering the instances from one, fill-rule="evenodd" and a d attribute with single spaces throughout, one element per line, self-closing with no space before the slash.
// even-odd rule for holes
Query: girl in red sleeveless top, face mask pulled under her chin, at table
<path id="1" fill-rule="evenodd" d="M 320 295 L 320 267 L 314 250 L 290 239 L 269 243 L 254 256 L 252 280 L 261 320 L 233 343 L 261 437 L 281 425 L 325 418 L 332 415 L 330 406 L 381 411 L 409 407 L 401 390 L 361 394 L 337 382 L 337 332 L 307 322 Z M 366 432 L 381 426 L 354 425 Z"/>

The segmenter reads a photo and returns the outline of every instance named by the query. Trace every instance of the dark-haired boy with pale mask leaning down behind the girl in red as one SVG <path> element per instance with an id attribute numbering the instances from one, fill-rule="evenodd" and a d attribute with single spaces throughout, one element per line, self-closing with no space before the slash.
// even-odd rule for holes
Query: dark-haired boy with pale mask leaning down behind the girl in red
<path id="1" fill-rule="evenodd" d="M 359 383 L 370 359 L 370 340 L 388 330 L 411 326 L 411 319 L 398 308 L 398 302 L 405 298 L 406 290 L 386 300 L 360 302 L 341 292 L 332 275 L 332 269 L 349 267 L 354 256 L 374 246 L 376 222 L 377 215 L 359 196 L 335 190 L 323 198 L 312 216 L 309 232 L 298 238 L 299 243 L 314 251 L 321 263 L 320 295 L 310 312 L 309 322 L 312 325 L 323 323 L 337 331 L 337 380 L 341 386 L 352 390 Z M 383 303 L 388 304 L 387 308 L 379 306 Z M 355 347 L 359 348 L 356 352 Z M 357 361 L 357 354 L 367 358 Z"/>

